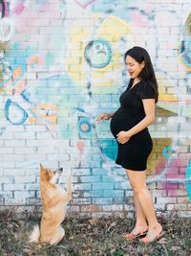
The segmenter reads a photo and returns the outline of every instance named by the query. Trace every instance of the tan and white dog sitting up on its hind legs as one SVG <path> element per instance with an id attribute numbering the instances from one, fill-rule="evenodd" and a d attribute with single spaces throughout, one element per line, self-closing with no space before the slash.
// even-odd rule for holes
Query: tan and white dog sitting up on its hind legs
<path id="1" fill-rule="evenodd" d="M 72 198 L 71 177 L 67 180 L 64 191 L 55 184 L 62 168 L 55 171 L 45 169 L 40 164 L 40 190 L 42 199 L 42 219 L 40 228 L 34 226 L 30 242 L 57 244 L 65 235 L 60 225 L 66 215 L 67 202 Z"/>

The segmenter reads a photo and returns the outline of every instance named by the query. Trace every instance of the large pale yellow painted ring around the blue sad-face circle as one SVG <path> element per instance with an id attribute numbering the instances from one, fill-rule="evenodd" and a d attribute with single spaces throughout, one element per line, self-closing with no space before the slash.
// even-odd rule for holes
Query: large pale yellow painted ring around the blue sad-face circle
<path id="1" fill-rule="evenodd" d="M 84 27 L 84 21 L 78 20 L 75 27 L 69 32 L 69 51 L 70 57 L 64 59 L 64 65 L 69 70 L 68 74 L 75 84 L 84 86 L 84 82 L 91 79 L 92 86 L 117 86 L 114 80 L 114 74 L 119 70 L 121 74 L 121 64 L 123 61 L 120 52 L 120 39 L 125 36 L 128 38 L 129 47 L 135 45 L 135 38 L 128 24 L 117 16 L 110 15 L 102 22 L 102 16 L 95 14 L 89 19 L 89 26 Z M 100 23 L 100 24 L 99 24 Z M 96 25 L 99 24 L 98 28 Z M 108 65 L 103 68 L 90 67 L 84 58 L 84 50 L 87 44 L 93 39 L 105 39 L 111 44 L 112 59 Z M 74 73 L 77 71 L 77 74 Z M 98 81 L 100 80 L 100 81 Z M 121 82 L 121 81 L 119 81 Z M 79 88 L 80 89 L 80 88 Z M 108 88 L 106 88 L 108 92 Z"/>

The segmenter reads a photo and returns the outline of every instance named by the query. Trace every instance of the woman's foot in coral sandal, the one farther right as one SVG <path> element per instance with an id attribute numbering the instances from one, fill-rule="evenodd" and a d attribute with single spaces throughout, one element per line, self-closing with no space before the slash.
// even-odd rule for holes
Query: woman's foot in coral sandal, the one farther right
<path id="1" fill-rule="evenodd" d="M 149 228 L 146 237 L 142 238 L 140 241 L 144 244 L 152 243 L 158 240 L 163 233 L 161 225 L 157 224 L 156 226 Z"/>

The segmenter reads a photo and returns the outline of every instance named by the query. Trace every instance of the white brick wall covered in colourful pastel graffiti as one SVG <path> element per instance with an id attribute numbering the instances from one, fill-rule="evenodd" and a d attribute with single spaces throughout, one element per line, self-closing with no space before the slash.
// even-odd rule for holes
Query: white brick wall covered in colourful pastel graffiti
<path id="1" fill-rule="evenodd" d="M 0 205 L 40 206 L 39 163 L 73 174 L 69 211 L 130 214 L 109 122 L 129 80 L 124 52 L 145 47 L 159 81 L 148 183 L 159 211 L 191 208 L 190 0 L 1 1 Z"/>

